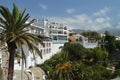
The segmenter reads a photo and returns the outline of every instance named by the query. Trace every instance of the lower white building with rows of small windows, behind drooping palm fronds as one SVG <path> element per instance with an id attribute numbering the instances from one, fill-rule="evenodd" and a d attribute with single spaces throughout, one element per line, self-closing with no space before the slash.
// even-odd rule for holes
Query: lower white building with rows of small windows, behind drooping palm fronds
<path id="1" fill-rule="evenodd" d="M 30 66 L 35 66 L 36 64 L 41 64 L 45 60 L 52 57 L 52 40 L 45 36 L 38 36 L 43 40 L 44 47 L 41 44 L 38 44 L 37 47 L 42 53 L 42 58 L 35 54 L 33 56 L 33 53 L 31 53 L 26 46 L 23 46 L 24 53 L 26 55 L 26 67 L 29 68 Z"/>

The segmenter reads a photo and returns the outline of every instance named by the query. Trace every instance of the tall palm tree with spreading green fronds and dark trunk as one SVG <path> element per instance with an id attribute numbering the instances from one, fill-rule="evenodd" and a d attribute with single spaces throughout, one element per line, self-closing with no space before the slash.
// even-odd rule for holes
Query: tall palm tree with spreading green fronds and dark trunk
<path id="1" fill-rule="evenodd" d="M 35 45 L 39 43 L 43 45 L 42 40 L 35 35 L 27 33 L 27 30 L 25 30 L 34 21 L 27 22 L 30 16 L 29 14 L 25 14 L 25 11 L 20 11 L 15 4 L 13 4 L 12 11 L 7 7 L 0 6 L 0 14 L 2 16 L 0 17 L 0 26 L 2 28 L 0 38 L 2 43 L 7 44 L 10 53 L 8 80 L 13 80 L 14 54 L 16 49 L 25 45 L 33 54 L 38 53 L 42 57 L 39 49 Z"/>

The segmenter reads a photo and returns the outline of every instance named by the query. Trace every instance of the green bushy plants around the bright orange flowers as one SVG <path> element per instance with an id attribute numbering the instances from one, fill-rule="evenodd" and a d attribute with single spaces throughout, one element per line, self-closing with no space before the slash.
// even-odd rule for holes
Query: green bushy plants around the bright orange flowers
<path id="1" fill-rule="evenodd" d="M 46 72 L 48 78 L 52 80 L 73 80 L 71 69 L 72 63 L 68 60 L 66 52 L 59 52 L 50 60 L 45 61 L 41 68 Z M 47 73 L 49 71 L 49 73 Z"/>

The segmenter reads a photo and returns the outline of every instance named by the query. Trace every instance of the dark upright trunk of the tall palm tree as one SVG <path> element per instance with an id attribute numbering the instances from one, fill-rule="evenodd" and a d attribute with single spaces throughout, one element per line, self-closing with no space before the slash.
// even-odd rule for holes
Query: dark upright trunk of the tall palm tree
<path id="1" fill-rule="evenodd" d="M 15 45 L 13 43 L 8 43 L 8 52 L 9 52 L 8 80 L 13 80 L 14 54 L 15 54 Z"/>

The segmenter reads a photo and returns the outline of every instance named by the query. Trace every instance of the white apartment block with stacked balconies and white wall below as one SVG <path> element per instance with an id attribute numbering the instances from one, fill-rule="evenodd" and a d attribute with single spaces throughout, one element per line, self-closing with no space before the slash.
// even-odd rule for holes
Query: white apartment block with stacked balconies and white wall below
<path id="1" fill-rule="evenodd" d="M 43 20 L 47 35 L 52 39 L 52 53 L 60 51 L 59 47 L 68 42 L 68 25 L 56 23 L 48 20 Z"/>

